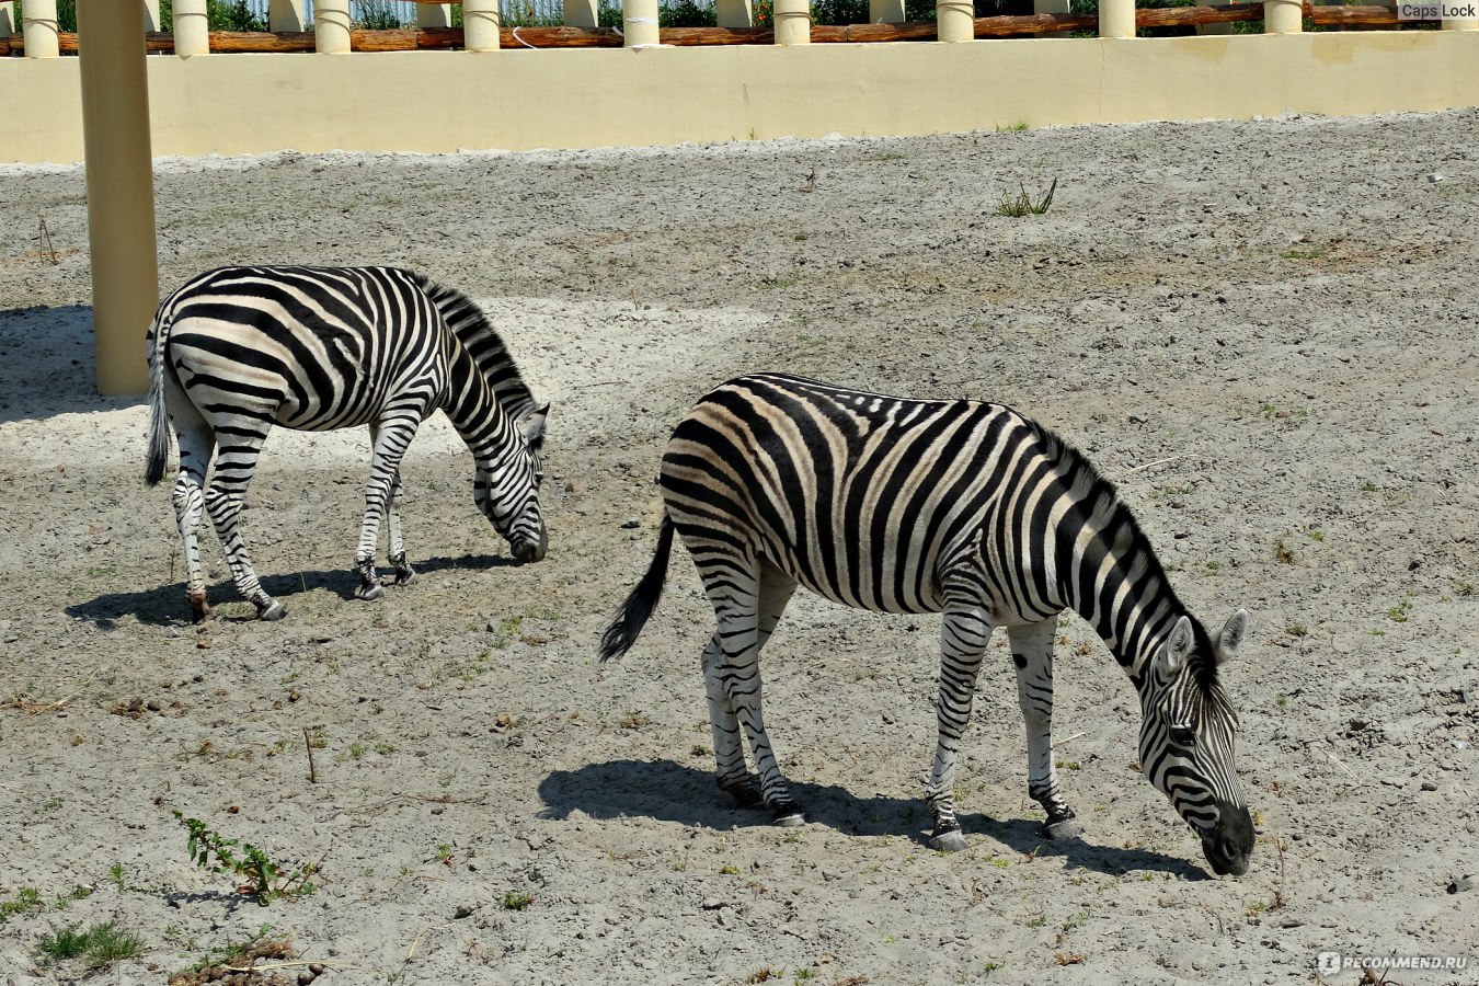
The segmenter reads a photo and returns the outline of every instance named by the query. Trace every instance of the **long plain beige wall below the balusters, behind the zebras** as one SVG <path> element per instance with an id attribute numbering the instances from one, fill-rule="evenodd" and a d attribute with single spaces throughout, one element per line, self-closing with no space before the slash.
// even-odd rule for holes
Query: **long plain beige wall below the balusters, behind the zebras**
<path id="1" fill-rule="evenodd" d="M 1449 109 L 1479 105 L 1475 65 L 1460 31 L 148 59 L 161 155 Z M 81 160 L 77 59 L 0 59 L 0 161 Z"/>

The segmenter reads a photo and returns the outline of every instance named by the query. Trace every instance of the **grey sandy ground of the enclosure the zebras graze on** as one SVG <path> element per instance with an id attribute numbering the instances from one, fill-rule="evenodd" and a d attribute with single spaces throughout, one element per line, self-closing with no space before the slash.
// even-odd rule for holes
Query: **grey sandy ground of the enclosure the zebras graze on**
<path id="1" fill-rule="evenodd" d="M 92 393 L 83 176 L 4 170 L 4 982 L 163 982 L 263 924 L 345 986 L 1361 982 L 1321 976 L 1325 951 L 1467 955 L 1389 982 L 1479 982 L 1476 135 L 1470 111 L 164 161 L 163 290 L 413 266 L 484 300 L 555 402 L 549 559 L 509 562 L 436 421 L 405 469 L 422 578 L 379 603 L 351 599 L 365 438 L 274 433 L 247 532 L 288 618 L 248 619 L 207 540 L 201 636 L 143 407 Z M 1053 177 L 1046 216 L 995 214 Z M 1210 878 L 1133 769 L 1134 693 L 1077 618 L 1057 757 L 1081 841 L 1043 844 L 1001 652 L 960 775 L 970 850 L 932 853 L 938 619 L 812 597 L 763 664 L 810 820 L 726 806 L 686 556 L 624 661 L 595 642 L 648 563 L 670 427 L 751 370 L 1018 405 L 1118 480 L 1198 615 L 1253 613 L 1225 671 L 1247 877 Z M 317 891 L 246 902 L 172 810 L 322 859 Z M 109 918 L 142 958 L 38 962 Z"/>

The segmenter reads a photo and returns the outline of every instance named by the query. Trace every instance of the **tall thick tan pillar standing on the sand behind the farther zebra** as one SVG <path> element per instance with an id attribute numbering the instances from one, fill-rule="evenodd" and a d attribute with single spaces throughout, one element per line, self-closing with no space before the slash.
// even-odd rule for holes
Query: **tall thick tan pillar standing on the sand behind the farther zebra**
<path id="1" fill-rule="evenodd" d="M 77 33 L 98 390 L 143 393 L 143 334 L 160 305 L 160 269 L 139 7 L 83 0 Z"/>

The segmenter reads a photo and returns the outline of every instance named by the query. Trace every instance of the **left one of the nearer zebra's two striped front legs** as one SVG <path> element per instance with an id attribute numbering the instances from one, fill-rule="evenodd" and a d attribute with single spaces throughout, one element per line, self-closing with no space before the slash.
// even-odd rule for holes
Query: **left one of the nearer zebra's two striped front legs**
<path id="1" fill-rule="evenodd" d="M 935 747 L 935 767 L 924 792 L 935 810 L 930 846 L 947 853 L 966 849 L 966 837 L 955 819 L 955 757 L 960 752 L 960 738 L 970 724 L 976 674 L 991 642 L 991 627 L 985 606 L 947 602 L 945 622 L 941 627 L 939 699 L 935 707 L 939 742 Z"/>

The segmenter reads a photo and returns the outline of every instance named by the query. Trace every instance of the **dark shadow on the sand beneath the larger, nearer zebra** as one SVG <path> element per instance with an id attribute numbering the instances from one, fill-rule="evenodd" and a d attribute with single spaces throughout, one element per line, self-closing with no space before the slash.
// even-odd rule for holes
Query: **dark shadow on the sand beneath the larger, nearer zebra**
<path id="1" fill-rule="evenodd" d="M 847 835 L 910 835 L 929 844 L 929 809 L 918 798 L 884 795 L 858 797 L 837 785 L 788 779 L 791 794 L 806 810 L 808 822 Z M 671 760 L 611 760 L 575 770 L 555 770 L 540 783 L 546 819 L 565 819 L 583 812 L 598 819 L 651 817 L 711 829 L 769 825 L 765 809 L 731 807 L 729 797 L 714 785 L 708 770 Z M 1069 868 L 1103 874 L 1160 871 L 1185 880 L 1210 880 L 1195 860 L 1146 849 L 1092 846 L 1081 840 L 1049 843 L 1043 823 L 1028 819 L 998 820 L 986 815 L 960 813 L 973 837 L 985 837 L 1023 856 L 1062 856 Z"/>

